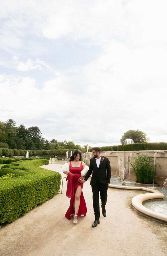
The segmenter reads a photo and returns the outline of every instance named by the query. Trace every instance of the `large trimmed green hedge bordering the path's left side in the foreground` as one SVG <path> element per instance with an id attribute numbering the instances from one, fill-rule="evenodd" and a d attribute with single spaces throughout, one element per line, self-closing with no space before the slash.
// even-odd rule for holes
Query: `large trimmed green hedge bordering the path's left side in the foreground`
<path id="1" fill-rule="evenodd" d="M 39 168 L 48 163 L 46 159 L 34 159 L 2 166 L 0 169 L 0 223 L 14 221 L 59 193 L 61 174 Z"/>

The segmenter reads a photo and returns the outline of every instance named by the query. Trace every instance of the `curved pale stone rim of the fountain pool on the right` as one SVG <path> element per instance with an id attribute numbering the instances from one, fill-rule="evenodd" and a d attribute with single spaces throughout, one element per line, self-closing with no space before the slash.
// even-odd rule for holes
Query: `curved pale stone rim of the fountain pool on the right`
<path id="1" fill-rule="evenodd" d="M 150 192 L 150 193 L 134 196 L 132 198 L 133 207 L 145 215 L 148 215 L 152 218 L 167 222 L 167 215 L 152 211 L 142 205 L 142 203 L 147 200 L 165 198 L 165 196 L 159 190 L 145 188 L 145 187 L 129 187 L 129 186 L 124 187 L 124 186 L 118 186 L 118 185 L 112 185 L 112 184 L 109 184 L 109 187 L 120 188 L 120 189 L 129 189 L 129 190 L 143 190 L 143 191 Z"/>

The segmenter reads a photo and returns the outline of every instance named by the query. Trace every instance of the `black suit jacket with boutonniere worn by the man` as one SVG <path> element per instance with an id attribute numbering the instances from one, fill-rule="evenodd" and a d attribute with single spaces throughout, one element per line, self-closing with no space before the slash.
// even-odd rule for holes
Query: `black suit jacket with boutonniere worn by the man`
<path id="1" fill-rule="evenodd" d="M 106 184 L 110 183 L 111 178 L 111 167 L 110 161 L 107 157 L 101 156 L 99 168 L 97 168 L 96 158 L 90 159 L 89 170 L 85 177 L 85 180 L 90 177 L 92 173 L 92 178 L 90 181 L 91 186 L 95 186 L 96 181 L 100 183 L 101 186 L 105 186 Z"/>

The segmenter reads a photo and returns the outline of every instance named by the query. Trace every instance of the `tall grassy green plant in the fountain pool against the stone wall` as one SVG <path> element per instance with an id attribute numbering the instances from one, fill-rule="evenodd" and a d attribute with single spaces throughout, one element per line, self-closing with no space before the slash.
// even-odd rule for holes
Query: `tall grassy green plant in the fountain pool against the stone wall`
<path id="1" fill-rule="evenodd" d="M 136 182 L 144 184 L 152 184 L 155 182 L 154 176 L 156 175 L 156 165 L 154 173 L 154 160 L 151 156 L 142 154 L 134 157 L 134 162 L 128 159 L 127 164 L 133 168 L 133 173 L 136 177 Z"/>

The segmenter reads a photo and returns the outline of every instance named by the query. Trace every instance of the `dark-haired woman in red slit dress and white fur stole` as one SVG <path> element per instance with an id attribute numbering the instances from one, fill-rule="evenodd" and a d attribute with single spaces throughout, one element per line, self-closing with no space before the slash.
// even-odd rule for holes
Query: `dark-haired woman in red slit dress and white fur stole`
<path id="1" fill-rule="evenodd" d="M 62 171 L 67 175 L 68 184 L 66 196 L 70 197 L 70 206 L 65 214 L 67 219 L 71 219 L 70 215 L 74 217 L 74 223 L 77 223 L 77 216 L 86 215 L 87 208 L 85 199 L 82 193 L 83 183 L 79 183 L 78 179 L 82 176 L 85 178 L 89 169 L 82 162 L 82 153 L 79 150 L 75 150 L 70 161 L 62 166 Z"/>

